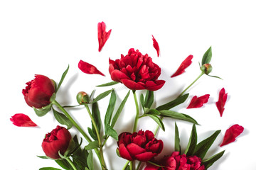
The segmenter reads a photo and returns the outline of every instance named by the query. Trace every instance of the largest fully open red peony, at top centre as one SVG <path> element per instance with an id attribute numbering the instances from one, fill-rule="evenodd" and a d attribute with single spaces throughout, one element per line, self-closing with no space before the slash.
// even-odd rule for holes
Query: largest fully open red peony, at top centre
<path id="1" fill-rule="evenodd" d="M 121 59 L 110 60 L 109 67 L 112 80 L 121 82 L 132 90 L 147 89 L 156 91 L 164 86 L 164 80 L 158 80 L 161 69 L 152 62 L 149 55 L 142 55 L 139 50 L 131 48 Z"/>

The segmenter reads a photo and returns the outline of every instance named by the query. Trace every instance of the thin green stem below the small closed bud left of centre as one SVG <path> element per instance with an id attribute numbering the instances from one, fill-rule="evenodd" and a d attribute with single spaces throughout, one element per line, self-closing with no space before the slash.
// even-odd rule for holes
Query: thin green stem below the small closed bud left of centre
<path id="1" fill-rule="evenodd" d="M 96 132 L 96 135 L 97 135 L 97 140 L 98 140 L 98 142 L 99 142 L 99 147 L 100 147 L 100 159 L 101 159 L 101 162 L 100 162 L 100 163 L 101 163 L 102 169 L 107 169 L 107 168 L 106 168 L 106 164 L 105 164 L 105 159 L 104 159 L 104 156 L 103 156 L 103 149 L 102 149 L 103 145 L 102 145 L 102 142 L 101 142 L 101 140 L 100 140 L 100 132 L 97 130 L 97 125 L 96 125 L 96 123 L 95 123 L 94 118 L 92 117 L 92 113 L 90 112 L 90 108 L 89 108 L 89 106 L 88 106 L 87 104 L 85 104 L 85 108 L 86 108 L 88 114 L 90 115 L 90 118 L 91 118 L 91 120 L 92 120 L 92 125 L 93 125 L 93 127 L 95 128 L 95 132 Z"/>

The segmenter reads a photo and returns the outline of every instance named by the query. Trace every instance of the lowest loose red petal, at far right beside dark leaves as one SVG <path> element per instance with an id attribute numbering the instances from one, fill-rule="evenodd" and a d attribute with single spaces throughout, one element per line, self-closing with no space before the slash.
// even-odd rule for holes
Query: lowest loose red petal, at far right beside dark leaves
<path id="1" fill-rule="evenodd" d="M 244 128 L 238 124 L 235 124 L 230 128 L 228 128 L 228 130 L 226 130 L 225 132 L 224 139 L 223 139 L 223 142 L 220 144 L 220 147 L 224 145 L 228 145 L 231 142 L 234 142 L 235 137 L 238 137 L 243 130 Z"/>

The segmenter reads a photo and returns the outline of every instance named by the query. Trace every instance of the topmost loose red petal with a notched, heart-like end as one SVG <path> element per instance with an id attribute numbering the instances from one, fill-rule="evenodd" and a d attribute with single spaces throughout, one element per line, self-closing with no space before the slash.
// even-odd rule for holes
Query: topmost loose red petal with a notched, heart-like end
<path id="1" fill-rule="evenodd" d="M 97 29 L 100 52 L 102 50 L 102 47 L 105 45 L 107 39 L 110 37 L 111 30 L 106 32 L 106 24 L 104 22 L 98 23 Z"/>

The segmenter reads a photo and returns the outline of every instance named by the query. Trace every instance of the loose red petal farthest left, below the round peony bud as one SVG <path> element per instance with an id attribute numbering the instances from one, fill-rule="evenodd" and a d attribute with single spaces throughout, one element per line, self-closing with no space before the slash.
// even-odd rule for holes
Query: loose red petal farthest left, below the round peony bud
<path id="1" fill-rule="evenodd" d="M 11 116 L 10 120 L 13 122 L 16 126 L 23 126 L 23 127 L 31 127 L 31 126 L 37 126 L 36 123 L 33 123 L 31 118 L 28 117 L 28 115 L 25 115 L 23 113 L 17 113 L 13 116 Z"/>

